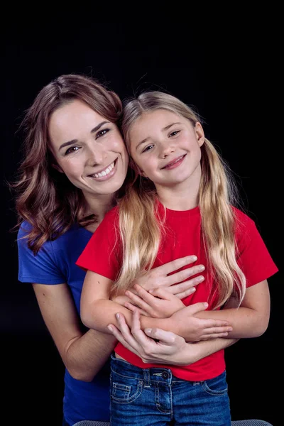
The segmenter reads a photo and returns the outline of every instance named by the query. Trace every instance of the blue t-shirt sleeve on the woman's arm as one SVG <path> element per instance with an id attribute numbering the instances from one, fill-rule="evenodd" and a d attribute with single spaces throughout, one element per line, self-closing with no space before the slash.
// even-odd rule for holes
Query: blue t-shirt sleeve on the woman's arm
<path id="1" fill-rule="evenodd" d="M 18 280 L 22 283 L 62 284 L 65 277 L 58 268 L 53 256 L 52 243 L 47 241 L 36 255 L 28 248 L 25 238 L 31 225 L 27 222 L 21 224 L 18 230 Z"/>

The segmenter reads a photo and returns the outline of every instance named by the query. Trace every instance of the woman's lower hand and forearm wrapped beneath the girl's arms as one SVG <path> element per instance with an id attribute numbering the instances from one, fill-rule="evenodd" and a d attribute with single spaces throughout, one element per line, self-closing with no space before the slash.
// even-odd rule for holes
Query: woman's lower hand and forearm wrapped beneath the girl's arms
<path id="1" fill-rule="evenodd" d="M 138 310 L 134 311 L 132 327 L 129 329 L 124 315 L 120 314 L 118 326 L 109 324 L 109 330 L 145 363 L 189 365 L 237 342 L 237 339 L 212 339 L 187 343 L 178 334 L 162 329 L 146 329 L 143 332 L 140 320 Z"/>

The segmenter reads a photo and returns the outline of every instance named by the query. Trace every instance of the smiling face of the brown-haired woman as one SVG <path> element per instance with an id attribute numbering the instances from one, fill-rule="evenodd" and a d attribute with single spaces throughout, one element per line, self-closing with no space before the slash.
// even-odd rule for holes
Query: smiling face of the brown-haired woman
<path id="1" fill-rule="evenodd" d="M 50 116 L 49 137 L 55 168 L 86 198 L 119 190 L 129 156 L 116 124 L 75 99 Z"/>

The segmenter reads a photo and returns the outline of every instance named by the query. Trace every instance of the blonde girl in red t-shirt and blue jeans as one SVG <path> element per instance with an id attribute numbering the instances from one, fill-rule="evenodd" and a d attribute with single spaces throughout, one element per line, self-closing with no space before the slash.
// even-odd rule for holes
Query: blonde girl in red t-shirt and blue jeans
<path id="1" fill-rule="evenodd" d="M 169 94 L 148 92 L 126 104 L 121 128 L 136 179 L 77 261 L 88 270 L 84 324 L 107 332 L 116 312 L 129 323 L 139 307 L 163 317 L 157 327 L 163 324 L 187 342 L 200 340 L 192 332 L 197 317 L 229 320 L 230 337 L 263 334 L 270 310 L 267 278 L 277 268 L 253 221 L 233 207 L 231 180 L 197 115 Z M 138 295 L 126 291 L 141 270 L 190 253 L 207 268 L 204 283 L 182 302 L 166 290 L 146 296 L 136 285 Z M 129 310 L 109 300 L 125 292 L 135 304 L 126 302 Z M 232 296 L 237 307 L 220 310 Z M 214 312 L 197 315 L 195 302 Z M 148 327 L 146 315 L 141 323 Z M 230 425 L 223 351 L 190 366 L 143 364 L 121 344 L 114 351 L 111 425 L 121 425 L 121 418 L 124 425 Z"/>

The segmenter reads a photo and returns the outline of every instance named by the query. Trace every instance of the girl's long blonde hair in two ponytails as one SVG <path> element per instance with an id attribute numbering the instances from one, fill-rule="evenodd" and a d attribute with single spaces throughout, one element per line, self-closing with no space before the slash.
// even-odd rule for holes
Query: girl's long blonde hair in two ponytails
<path id="1" fill-rule="evenodd" d="M 131 99 L 124 107 L 121 131 L 130 153 L 129 131 L 135 121 L 149 111 L 165 109 L 188 119 L 193 126 L 200 121 L 190 107 L 170 94 L 146 92 Z M 239 303 L 244 298 L 246 278 L 236 262 L 236 186 L 212 143 L 205 138 L 201 147 L 201 181 L 199 206 L 202 217 L 202 236 L 207 251 L 210 272 L 218 283 L 211 297 L 218 292 L 216 307 L 224 305 L 232 293 Z M 133 164 L 134 170 L 136 170 Z M 143 270 L 151 269 L 158 254 L 163 218 L 155 211 L 157 194 L 153 182 L 136 177 L 119 201 L 119 226 L 123 243 L 123 262 L 113 293 L 121 293 Z"/>

